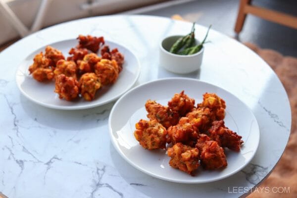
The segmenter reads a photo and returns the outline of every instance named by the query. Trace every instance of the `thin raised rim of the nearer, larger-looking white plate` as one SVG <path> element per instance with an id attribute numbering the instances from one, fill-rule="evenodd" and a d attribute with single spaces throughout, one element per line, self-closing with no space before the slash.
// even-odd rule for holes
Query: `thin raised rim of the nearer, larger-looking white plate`
<path id="1" fill-rule="evenodd" d="M 253 152 L 252 156 L 247 160 L 246 164 L 240 168 L 237 168 L 235 169 L 232 173 L 230 174 L 227 174 L 225 176 L 222 176 L 220 178 L 214 178 L 214 179 L 210 179 L 210 180 L 207 180 L 207 181 L 191 181 L 191 180 L 174 180 L 174 179 L 169 179 L 169 178 L 164 178 L 162 176 L 159 176 L 157 174 L 154 174 L 154 173 L 151 173 L 149 171 L 147 171 L 146 169 L 144 168 L 141 168 L 137 165 L 135 165 L 134 163 L 132 163 L 131 160 L 128 159 L 128 157 L 126 157 L 126 155 L 124 155 L 124 153 L 118 148 L 117 144 L 115 143 L 114 141 L 114 137 L 113 137 L 113 134 L 112 134 L 112 129 L 111 129 L 111 117 L 114 113 L 114 109 L 116 108 L 116 106 L 118 105 L 118 103 L 124 98 L 126 97 L 126 95 L 130 94 L 131 92 L 133 92 L 134 90 L 137 90 L 137 89 L 140 89 L 142 86 L 145 86 L 147 84 L 150 84 L 150 83 L 154 83 L 154 82 L 158 82 L 158 81 L 166 81 L 166 80 L 187 80 L 187 81 L 196 81 L 196 82 L 201 82 L 201 83 L 205 83 L 205 84 L 208 84 L 208 85 L 211 85 L 211 86 L 214 86 L 214 87 L 218 87 L 222 90 L 224 90 L 225 92 L 227 92 L 228 94 L 231 94 L 233 97 L 235 97 L 236 99 L 238 99 L 239 101 L 241 101 L 245 107 L 248 109 L 248 111 L 251 113 L 251 115 L 253 116 L 254 120 L 255 120 L 255 124 L 256 124 L 256 128 L 257 128 L 257 144 L 256 144 L 256 148 L 255 148 L 255 151 Z M 255 115 L 253 114 L 253 112 L 251 111 L 251 109 L 247 106 L 247 104 L 245 102 L 243 102 L 241 99 L 239 99 L 237 96 L 235 96 L 234 94 L 230 93 L 229 91 L 217 86 L 217 85 L 214 85 L 214 84 L 211 84 L 209 82 L 205 82 L 205 81 L 202 81 L 202 80 L 199 80 L 199 79 L 194 79 L 194 78 L 184 78 L 184 77 L 170 77 L 170 78 L 161 78 L 161 79 L 156 79 L 156 80 L 151 80 L 151 81 L 148 81 L 146 83 L 143 83 L 141 85 L 138 85 L 137 87 L 134 87 L 133 89 L 130 89 L 128 92 L 126 92 L 125 94 L 123 94 L 120 99 L 118 99 L 115 104 L 112 106 L 111 108 L 111 111 L 110 111 L 110 114 L 108 116 L 108 130 L 109 130 L 109 136 L 110 136 L 110 139 L 111 139 L 111 143 L 113 145 L 113 147 L 117 150 L 117 152 L 121 155 L 121 157 L 123 159 L 125 159 L 126 162 L 128 162 L 130 165 L 132 165 L 134 168 L 140 170 L 141 172 L 143 173 L 146 173 L 152 177 L 155 177 L 155 178 L 158 178 L 158 179 L 161 179 L 161 180 L 164 180 L 164 181 L 168 181 L 168 182 L 174 182 L 174 183 L 180 183 L 180 184 L 204 184 L 204 183 L 210 183 L 210 182 L 215 182 L 215 181 L 220 181 L 220 180 L 223 180 L 223 179 L 226 179 L 228 177 L 231 177 L 233 175 L 235 175 L 236 173 L 238 173 L 239 171 L 241 171 L 242 169 L 244 169 L 249 163 L 250 161 L 254 158 L 258 148 L 259 148 L 259 143 L 260 143 L 260 129 L 259 129 L 259 124 L 258 124 L 258 121 L 255 117 Z"/>

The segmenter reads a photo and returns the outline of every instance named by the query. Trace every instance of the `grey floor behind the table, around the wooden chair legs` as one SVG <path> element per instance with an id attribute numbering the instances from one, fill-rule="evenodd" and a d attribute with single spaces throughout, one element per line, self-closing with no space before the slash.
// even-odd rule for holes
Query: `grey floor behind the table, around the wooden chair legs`
<path id="1" fill-rule="evenodd" d="M 297 16 L 296 0 L 253 0 L 252 4 L 275 9 Z M 239 0 L 194 0 L 142 14 L 171 17 L 179 14 L 183 18 L 209 26 L 223 34 L 235 37 L 233 31 L 237 18 Z M 274 49 L 284 55 L 297 57 L 297 30 L 248 15 L 241 42 L 250 42 L 264 49 Z"/>

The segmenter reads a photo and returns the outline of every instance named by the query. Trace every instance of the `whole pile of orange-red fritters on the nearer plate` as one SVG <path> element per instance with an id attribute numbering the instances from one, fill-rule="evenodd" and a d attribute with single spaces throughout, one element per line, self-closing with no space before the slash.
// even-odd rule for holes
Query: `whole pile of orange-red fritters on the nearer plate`
<path id="1" fill-rule="evenodd" d="M 158 134 L 159 129 L 159 133 L 164 135 L 167 129 L 166 135 L 162 136 L 167 143 L 162 139 L 161 148 L 167 148 L 169 165 L 190 175 L 194 175 L 199 165 L 205 170 L 226 167 L 224 148 L 239 151 L 243 144 L 242 137 L 225 126 L 222 119 L 225 117 L 226 102 L 216 94 L 205 93 L 197 108 L 195 100 L 184 91 L 175 94 L 168 101 L 168 106 L 148 99 L 145 107 L 150 121 L 140 120 L 136 124 L 136 139 L 144 148 L 148 148 L 148 143 L 151 145 L 155 136 L 142 134 Z M 153 127 L 153 133 L 150 133 L 146 129 L 152 123 L 158 123 L 158 127 Z M 140 137 L 145 138 L 140 141 Z"/>

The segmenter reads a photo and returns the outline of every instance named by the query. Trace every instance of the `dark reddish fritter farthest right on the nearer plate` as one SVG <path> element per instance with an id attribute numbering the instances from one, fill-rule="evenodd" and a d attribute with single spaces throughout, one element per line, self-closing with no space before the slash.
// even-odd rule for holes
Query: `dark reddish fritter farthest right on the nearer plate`
<path id="1" fill-rule="evenodd" d="M 242 137 L 225 126 L 223 120 L 212 122 L 209 129 L 212 140 L 218 142 L 221 147 L 227 147 L 234 151 L 240 151 L 241 145 L 244 143 Z"/>

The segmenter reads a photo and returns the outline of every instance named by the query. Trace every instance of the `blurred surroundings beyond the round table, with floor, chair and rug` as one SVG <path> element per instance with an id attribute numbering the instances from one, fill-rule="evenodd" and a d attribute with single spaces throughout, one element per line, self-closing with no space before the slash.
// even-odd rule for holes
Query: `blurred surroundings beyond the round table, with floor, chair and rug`
<path id="1" fill-rule="evenodd" d="M 42 28 L 107 14 L 145 14 L 212 24 L 212 29 L 261 56 L 282 81 L 293 117 L 288 146 L 261 186 L 290 186 L 292 193 L 252 193 L 250 197 L 297 197 L 297 0 L 0 0 L 0 51 Z"/>

